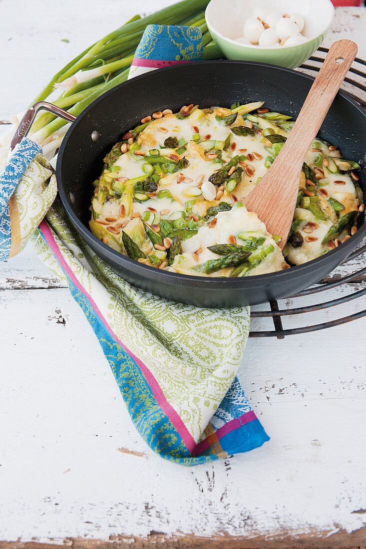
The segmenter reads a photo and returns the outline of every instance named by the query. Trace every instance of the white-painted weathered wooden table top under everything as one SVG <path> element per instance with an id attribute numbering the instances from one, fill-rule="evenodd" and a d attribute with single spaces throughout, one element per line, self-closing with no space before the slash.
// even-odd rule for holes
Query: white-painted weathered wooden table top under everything
<path id="1" fill-rule="evenodd" d="M 96 37 L 169 3 L 2 0 L 1 124 Z M 365 23 L 366 8 L 337 9 L 325 45 L 352 37 L 365 59 Z M 1 549 L 366 545 L 366 318 L 249 340 L 240 378 L 271 440 L 182 468 L 140 439 L 84 314 L 30 248 L 0 265 L 0 290 Z"/>

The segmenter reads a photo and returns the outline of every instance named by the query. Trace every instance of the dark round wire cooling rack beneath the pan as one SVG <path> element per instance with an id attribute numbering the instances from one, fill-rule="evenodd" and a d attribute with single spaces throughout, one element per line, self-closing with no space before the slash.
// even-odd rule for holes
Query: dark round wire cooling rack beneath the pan
<path id="1" fill-rule="evenodd" d="M 306 74 L 313 75 L 319 71 L 321 63 L 323 63 L 325 55 L 328 53 L 328 48 L 319 48 L 317 52 L 315 52 L 315 55 L 319 55 L 319 57 L 310 57 L 308 59 L 307 63 L 304 65 L 301 65 L 301 67 L 298 69 L 301 72 L 305 72 Z M 345 78 L 345 83 L 342 85 L 342 89 L 346 91 L 350 96 L 361 105 L 361 107 L 366 108 L 366 72 L 362 70 L 366 66 L 366 61 L 363 59 L 356 58 L 354 60 L 354 63 L 348 72 L 348 76 Z M 264 337 L 276 337 L 278 339 L 283 339 L 285 335 L 295 335 L 295 334 L 302 334 L 306 332 L 315 332 L 317 330 L 323 330 L 325 328 L 331 328 L 332 326 L 339 326 L 339 324 L 345 324 L 346 322 L 351 322 L 353 320 L 357 320 L 357 318 L 362 318 L 366 316 L 366 309 L 357 313 L 353 313 L 352 315 L 343 316 L 341 318 L 336 318 L 335 320 L 330 320 L 327 322 L 321 322 L 319 324 L 312 324 L 311 326 L 300 326 L 297 328 L 290 328 L 290 329 L 284 329 L 282 326 L 282 316 L 290 316 L 290 315 L 302 315 L 304 313 L 309 312 L 315 312 L 315 311 L 321 311 L 324 310 L 328 313 L 328 310 L 331 307 L 342 305 L 347 302 L 350 302 L 351 300 L 362 298 L 366 294 L 366 285 L 364 288 L 358 289 L 359 285 L 363 285 L 362 282 L 366 282 L 366 264 L 365 264 L 365 258 L 363 257 L 364 254 L 366 254 L 366 244 L 363 245 L 361 248 L 354 251 L 350 256 L 347 257 L 346 261 L 343 262 L 342 265 L 347 266 L 347 272 L 350 272 L 350 274 L 347 274 L 345 276 L 335 275 L 332 277 L 332 274 L 330 275 L 331 282 L 327 279 L 324 279 L 323 281 L 320 281 L 317 285 L 314 285 L 312 288 L 307 288 L 306 290 L 303 290 L 302 292 L 289 296 L 289 298 L 286 298 L 284 300 L 280 300 L 281 302 L 284 302 L 281 307 L 279 307 L 279 304 L 277 301 L 270 301 L 270 311 L 264 311 L 264 310 L 252 310 L 251 311 L 251 318 L 268 318 L 271 317 L 273 319 L 274 329 L 267 330 L 267 331 L 261 331 L 261 330 L 252 330 L 249 333 L 249 337 L 252 338 L 264 338 Z M 356 265 L 353 264 L 354 260 L 356 260 Z M 364 262 L 365 267 L 359 269 L 359 264 L 357 265 L 357 261 L 361 260 Z M 360 262 L 359 262 L 360 263 Z M 353 287 L 348 287 L 347 284 L 359 282 L 361 284 L 354 285 Z M 346 286 L 345 286 L 346 285 Z M 346 287 L 347 290 L 350 289 L 351 293 L 348 293 L 345 296 L 336 298 L 336 299 L 326 299 L 323 302 L 314 304 L 314 305 L 306 305 L 306 306 L 295 306 L 290 308 L 288 304 L 293 304 L 296 300 L 301 300 L 302 297 L 307 295 L 314 295 L 319 294 L 321 292 L 327 292 L 328 290 L 332 290 L 333 288 L 342 286 L 343 289 Z M 352 291 L 355 290 L 356 291 Z M 259 307 L 265 307 L 263 305 L 260 305 Z M 328 316 L 328 315 L 326 315 Z M 297 323 L 298 319 L 301 317 L 296 317 Z M 253 322 L 252 322 L 253 326 Z"/>

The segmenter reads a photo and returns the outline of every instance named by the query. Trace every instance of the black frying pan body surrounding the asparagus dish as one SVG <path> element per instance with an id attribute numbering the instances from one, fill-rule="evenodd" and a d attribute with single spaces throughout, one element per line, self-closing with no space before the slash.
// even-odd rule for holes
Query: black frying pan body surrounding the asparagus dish
<path id="1" fill-rule="evenodd" d="M 144 116 L 165 108 L 178 111 L 190 103 L 204 108 L 265 100 L 270 110 L 296 117 L 312 83 L 312 77 L 294 70 L 225 60 L 172 66 L 113 88 L 77 117 L 59 149 L 58 189 L 71 223 L 124 279 L 174 301 L 210 307 L 254 305 L 292 295 L 318 282 L 366 236 L 363 219 L 354 236 L 318 259 L 285 271 L 243 278 L 186 276 L 148 267 L 112 250 L 88 228 L 92 181 L 102 171 L 103 157 Z M 364 161 L 366 114 L 347 93 L 337 94 L 321 126 L 320 137 L 336 144 L 344 158 Z M 365 193 L 364 176 L 360 184 Z"/>

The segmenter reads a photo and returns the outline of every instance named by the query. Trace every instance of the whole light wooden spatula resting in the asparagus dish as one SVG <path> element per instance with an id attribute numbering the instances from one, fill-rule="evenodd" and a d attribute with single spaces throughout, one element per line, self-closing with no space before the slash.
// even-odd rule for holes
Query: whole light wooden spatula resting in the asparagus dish
<path id="1" fill-rule="evenodd" d="M 244 201 L 271 234 L 281 237 L 281 249 L 289 236 L 304 158 L 356 54 L 351 40 L 332 44 L 284 147 Z"/>

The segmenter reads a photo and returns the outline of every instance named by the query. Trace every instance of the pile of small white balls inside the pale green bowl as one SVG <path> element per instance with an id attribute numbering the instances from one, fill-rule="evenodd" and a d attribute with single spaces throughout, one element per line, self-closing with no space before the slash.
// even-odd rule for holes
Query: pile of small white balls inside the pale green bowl
<path id="1" fill-rule="evenodd" d="M 279 10 L 254 8 L 243 27 L 243 36 L 235 42 L 270 48 L 273 46 L 296 46 L 307 40 L 301 32 L 304 18 L 300 13 L 281 13 Z"/>

